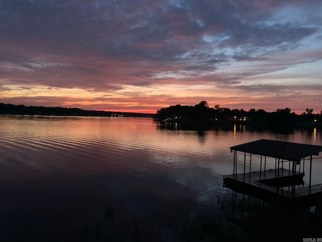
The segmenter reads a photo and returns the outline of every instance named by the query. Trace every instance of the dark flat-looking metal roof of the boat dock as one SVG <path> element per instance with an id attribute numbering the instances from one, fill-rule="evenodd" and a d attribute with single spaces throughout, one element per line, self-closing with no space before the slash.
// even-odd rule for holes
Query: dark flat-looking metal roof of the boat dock
<path id="1" fill-rule="evenodd" d="M 262 139 L 232 146 L 230 150 L 300 161 L 302 158 L 318 155 L 322 151 L 322 146 Z"/>

